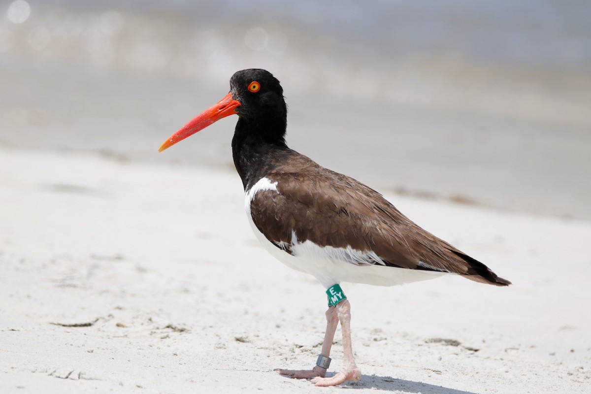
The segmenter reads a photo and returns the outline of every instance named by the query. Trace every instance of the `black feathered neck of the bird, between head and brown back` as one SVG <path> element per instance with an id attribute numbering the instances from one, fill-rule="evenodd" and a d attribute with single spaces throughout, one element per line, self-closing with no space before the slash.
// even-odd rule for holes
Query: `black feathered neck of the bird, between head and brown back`
<path id="1" fill-rule="evenodd" d="M 264 125 L 239 118 L 232 138 L 232 157 L 244 190 L 271 171 L 291 149 L 285 144 L 285 120 Z"/>

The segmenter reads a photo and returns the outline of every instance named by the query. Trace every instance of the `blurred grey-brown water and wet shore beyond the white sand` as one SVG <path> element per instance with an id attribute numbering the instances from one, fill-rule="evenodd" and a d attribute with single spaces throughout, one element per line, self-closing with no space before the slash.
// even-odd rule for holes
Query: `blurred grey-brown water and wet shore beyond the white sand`
<path id="1" fill-rule="evenodd" d="M 590 20 L 557 0 L 0 2 L 0 147 L 229 168 L 233 120 L 155 151 L 261 67 L 290 145 L 333 170 L 591 219 Z"/>

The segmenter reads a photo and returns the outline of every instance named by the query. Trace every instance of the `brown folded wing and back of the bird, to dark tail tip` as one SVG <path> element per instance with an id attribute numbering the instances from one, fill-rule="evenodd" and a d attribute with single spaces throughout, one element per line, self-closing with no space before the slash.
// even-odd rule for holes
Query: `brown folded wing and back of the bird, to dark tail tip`
<path id="1" fill-rule="evenodd" d="M 499 286 L 510 283 L 352 178 L 319 165 L 271 172 L 267 178 L 277 182 L 278 193 L 256 193 L 251 213 L 258 229 L 276 245 L 289 245 L 295 232 L 299 242 L 374 252 L 387 266 L 457 273 Z"/>

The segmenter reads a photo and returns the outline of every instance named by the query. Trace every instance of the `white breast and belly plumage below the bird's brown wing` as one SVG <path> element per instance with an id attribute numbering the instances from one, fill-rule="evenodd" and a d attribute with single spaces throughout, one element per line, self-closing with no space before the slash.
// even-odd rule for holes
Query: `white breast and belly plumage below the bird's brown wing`
<path id="1" fill-rule="evenodd" d="M 340 282 L 393 286 L 444 275 L 444 272 L 385 267 L 374 252 L 363 253 L 350 246 L 333 248 L 316 245 L 310 240 L 300 242 L 295 231 L 291 232 L 291 242 L 272 243 L 256 227 L 251 214 L 251 203 L 256 193 L 267 190 L 277 191 L 277 182 L 261 178 L 245 195 L 246 216 L 256 238 L 276 259 L 297 271 L 313 275 L 326 288 Z M 290 250 L 291 254 L 286 250 Z"/>

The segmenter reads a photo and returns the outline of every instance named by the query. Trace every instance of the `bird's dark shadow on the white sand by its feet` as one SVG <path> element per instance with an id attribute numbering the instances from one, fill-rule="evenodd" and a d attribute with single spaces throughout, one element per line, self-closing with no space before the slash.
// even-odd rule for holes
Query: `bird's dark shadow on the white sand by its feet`
<path id="1" fill-rule="evenodd" d="M 329 375 L 329 374 L 327 374 Z M 334 375 L 334 374 L 333 374 Z M 341 385 L 343 389 L 378 389 L 402 393 L 423 394 L 476 394 L 469 391 L 450 389 L 413 380 L 396 379 L 391 376 L 362 375 L 358 382 Z"/>

